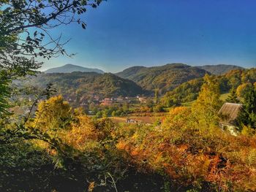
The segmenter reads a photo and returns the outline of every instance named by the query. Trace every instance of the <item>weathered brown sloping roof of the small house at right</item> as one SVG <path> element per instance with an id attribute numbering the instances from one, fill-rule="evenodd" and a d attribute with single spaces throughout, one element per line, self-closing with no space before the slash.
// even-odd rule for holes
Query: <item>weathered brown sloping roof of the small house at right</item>
<path id="1" fill-rule="evenodd" d="M 241 110 L 242 104 L 225 103 L 219 110 L 219 115 L 221 115 L 220 123 L 226 123 L 233 125 L 236 122 L 238 113 Z"/>

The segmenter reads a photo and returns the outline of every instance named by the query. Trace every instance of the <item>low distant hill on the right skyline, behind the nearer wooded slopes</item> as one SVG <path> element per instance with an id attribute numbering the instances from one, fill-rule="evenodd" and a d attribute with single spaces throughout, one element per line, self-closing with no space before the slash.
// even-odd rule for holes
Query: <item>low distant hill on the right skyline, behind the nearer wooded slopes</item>
<path id="1" fill-rule="evenodd" d="M 225 74 L 235 69 L 244 69 L 241 66 L 236 65 L 205 65 L 205 66 L 197 66 L 200 69 L 204 69 L 211 74 Z"/>

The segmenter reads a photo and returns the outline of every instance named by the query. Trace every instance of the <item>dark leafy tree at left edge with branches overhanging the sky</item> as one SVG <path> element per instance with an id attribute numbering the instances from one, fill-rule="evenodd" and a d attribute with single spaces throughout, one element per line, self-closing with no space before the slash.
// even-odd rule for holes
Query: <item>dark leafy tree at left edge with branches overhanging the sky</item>
<path id="1" fill-rule="evenodd" d="M 102 0 L 0 0 L 0 117 L 10 107 L 10 83 L 34 74 L 42 63 L 36 57 L 69 55 L 61 35 L 54 38 L 50 29 L 69 23 L 86 28 L 78 15 L 87 7 L 97 7 Z"/>

